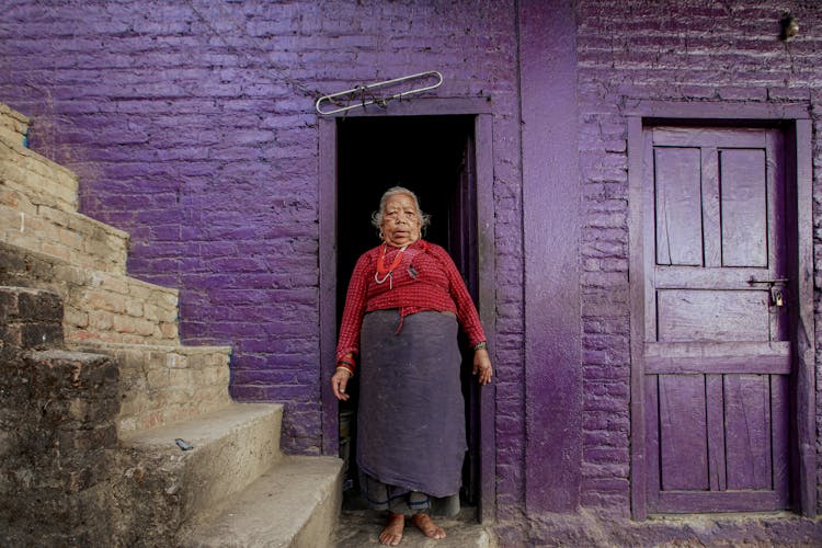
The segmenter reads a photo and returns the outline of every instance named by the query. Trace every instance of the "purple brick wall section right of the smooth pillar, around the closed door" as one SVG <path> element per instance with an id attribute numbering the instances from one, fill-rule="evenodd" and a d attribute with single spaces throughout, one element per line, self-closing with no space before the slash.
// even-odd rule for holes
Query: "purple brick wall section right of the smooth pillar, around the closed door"
<path id="1" fill-rule="evenodd" d="M 631 100 L 809 103 L 819 109 L 822 36 L 809 31 L 780 42 L 779 20 L 792 12 L 804 30 L 822 10 L 808 1 L 579 2 L 580 165 L 583 178 L 581 293 L 584 439 L 582 501 L 629 512 L 628 180 Z M 820 117 L 814 115 L 815 132 Z M 819 261 L 814 141 L 814 246 Z M 817 272 L 820 271 L 817 264 Z M 815 300 L 822 278 L 815 277 Z M 820 342 L 817 340 L 818 355 Z M 818 406 L 822 398 L 817 396 Z M 818 407 L 817 416 L 822 416 Z M 819 460 L 818 460 L 819 463 Z M 818 486 L 822 482 L 818 481 Z"/>

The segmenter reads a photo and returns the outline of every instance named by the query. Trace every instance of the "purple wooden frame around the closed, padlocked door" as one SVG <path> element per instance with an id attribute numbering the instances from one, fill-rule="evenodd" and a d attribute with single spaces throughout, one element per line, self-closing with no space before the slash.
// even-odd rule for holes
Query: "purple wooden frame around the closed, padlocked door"
<path id="1" fill-rule="evenodd" d="M 797 279 L 796 306 L 791 319 L 794 364 L 790 395 L 791 498 L 804 516 L 817 514 L 815 458 L 815 355 L 813 321 L 813 202 L 811 119 L 808 103 L 726 103 L 639 101 L 626 113 L 628 129 L 628 232 L 630 278 L 631 356 L 631 515 L 648 515 L 644 426 L 644 287 L 643 252 L 643 132 L 657 125 L 778 126 L 786 140 L 787 205 L 796 218 L 787 227 L 791 279 Z"/>

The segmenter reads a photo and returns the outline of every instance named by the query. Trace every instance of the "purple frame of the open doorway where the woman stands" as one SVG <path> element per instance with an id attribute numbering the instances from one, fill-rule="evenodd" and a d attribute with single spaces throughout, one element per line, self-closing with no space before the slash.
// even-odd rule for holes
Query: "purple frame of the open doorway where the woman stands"
<path id="1" fill-rule="evenodd" d="M 331 391 L 336 349 L 336 164 L 338 119 L 362 116 L 473 116 L 477 169 L 477 255 L 479 263 L 479 315 L 488 336 L 491 361 L 496 363 L 494 344 L 496 266 L 493 204 L 493 114 L 484 98 L 416 99 L 372 106 L 318 118 L 319 128 L 319 267 L 320 267 L 320 395 L 322 400 L 323 455 L 339 453 L 338 403 Z M 480 523 L 492 523 L 496 515 L 496 441 L 494 430 L 495 384 L 480 391 L 479 401 L 479 503 Z"/>

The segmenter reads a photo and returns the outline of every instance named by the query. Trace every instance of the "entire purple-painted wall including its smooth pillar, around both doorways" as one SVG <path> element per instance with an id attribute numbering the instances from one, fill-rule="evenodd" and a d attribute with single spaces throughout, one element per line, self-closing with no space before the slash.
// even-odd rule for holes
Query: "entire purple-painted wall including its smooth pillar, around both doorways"
<path id="1" fill-rule="evenodd" d="M 333 407 L 320 397 L 334 328 L 319 241 L 334 237 L 322 216 L 333 198 L 318 184 L 329 142 L 312 90 L 435 68 L 445 84 L 432 95 L 450 109 L 481 98 L 493 266 L 480 283 L 498 369 L 482 402 L 494 438 L 484 463 L 496 518 L 518 528 L 503 535 L 512 544 L 525 514 L 583 506 L 626 520 L 644 507 L 637 472 L 648 463 L 632 452 L 646 432 L 632 414 L 647 395 L 631 376 L 642 296 L 628 230 L 628 178 L 642 165 L 629 132 L 682 117 L 671 104 L 692 105 L 690 118 L 796 119 L 788 178 L 804 206 L 789 228 L 803 236 L 791 267 L 807 336 L 789 420 L 809 443 L 792 455 L 791 495 L 817 512 L 819 10 L 790 3 L 802 31 L 785 44 L 783 8 L 741 0 L 663 12 L 639 0 L 52 4 L 5 2 L 0 101 L 33 118 L 35 150 L 79 173 L 83 213 L 132 235 L 130 272 L 181 289 L 183 339 L 233 346 L 232 396 L 287 402 L 293 453 L 335 450 Z"/>

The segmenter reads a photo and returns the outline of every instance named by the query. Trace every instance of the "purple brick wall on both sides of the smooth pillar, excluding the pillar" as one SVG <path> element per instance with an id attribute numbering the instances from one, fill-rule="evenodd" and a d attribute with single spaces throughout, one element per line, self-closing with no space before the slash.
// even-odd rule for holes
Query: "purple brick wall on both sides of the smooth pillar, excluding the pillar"
<path id="1" fill-rule="evenodd" d="M 815 107 L 822 10 L 799 0 L 571 3 L 581 175 L 578 498 L 627 517 L 625 107 L 633 100 Z M 517 5 L 527 16 L 528 1 L 7 0 L 0 101 L 35 121 L 34 148 L 80 174 L 82 210 L 132 233 L 130 272 L 181 289 L 184 340 L 235 347 L 232 395 L 287 402 L 284 444 L 312 454 L 321 447 L 316 93 L 436 69 L 445 77 L 437 96 L 489 95 L 496 504 L 502 522 L 516 522 L 526 492 L 527 383 L 517 47 L 528 47 L 517 42 Z M 788 45 L 777 39 L 785 11 L 802 28 Z M 819 116 L 813 122 L 818 133 Z M 818 169 L 822 147 L 813 146 Z M 814 174 L 820 252 L 821 205 Z M 817 274 L 817 298 L 821 287 Z"/>

